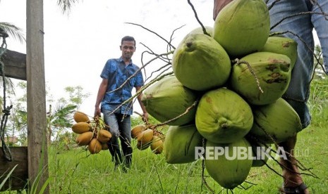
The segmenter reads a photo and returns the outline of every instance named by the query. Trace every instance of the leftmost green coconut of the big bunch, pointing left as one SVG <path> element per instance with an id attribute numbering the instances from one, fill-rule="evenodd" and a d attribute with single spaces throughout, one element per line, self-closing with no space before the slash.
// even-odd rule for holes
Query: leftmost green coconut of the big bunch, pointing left
<path id="1" fill-rule="evenodd" d="M 166 122 L 186 112 L 196 101 L 194 91 L 183 86 L 175 76 L 164 77 L 149 86 L 142 95 L 147 112 L 159 122 Z M 183 125 L 195 119 L 196 106 L 186 115 L 169 122 L 169 125 Z"/>

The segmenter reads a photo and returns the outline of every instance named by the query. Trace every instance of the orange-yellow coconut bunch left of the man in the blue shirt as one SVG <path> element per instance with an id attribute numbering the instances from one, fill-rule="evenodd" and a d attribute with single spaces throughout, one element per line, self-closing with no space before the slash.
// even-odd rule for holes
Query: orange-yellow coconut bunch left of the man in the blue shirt
<path id="1" fill-rule="evenodd" d="M 87 146 L 91 154 L 108 149 L 107 142 L 111 139 L 111 133 L 107 131 L 107 126 L 101 119 L 89 119 L 80 111 L 74 113 L 73 119 L 76 123 L 73 124 L 72 130 L 78 134 L 75 140 L 78 145 Z"/>

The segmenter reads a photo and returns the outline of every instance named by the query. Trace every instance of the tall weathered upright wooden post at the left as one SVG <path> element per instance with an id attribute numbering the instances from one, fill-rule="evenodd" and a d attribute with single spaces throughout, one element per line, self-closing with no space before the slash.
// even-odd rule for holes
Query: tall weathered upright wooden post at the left
<path id="1" fill-rule="evenodd" d="M 44 79 L 43 0 L 26 1 L 26 76 L 28 81 L 28 176 L 38 177 L 37 193 L 48 173 L 47 115 Z M 44 193 L 49 193 L 49 186 Z"/>

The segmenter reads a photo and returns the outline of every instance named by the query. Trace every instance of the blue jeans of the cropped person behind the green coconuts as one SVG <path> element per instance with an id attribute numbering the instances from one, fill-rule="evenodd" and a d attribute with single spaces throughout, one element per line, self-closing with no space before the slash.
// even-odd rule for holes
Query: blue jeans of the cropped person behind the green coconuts
<path id="1" fill-rule="evenodd" d="M 274 0 L 269 0 L 268 6 L 272 5 Z M 328 1 L 318 0 L 322 10 L 328 13 Z M 317 5 L 310 4 L 309 0 L 281 0 L 274 4 L 269 10 L 270 22 L 273 27 L 281 19 L 286 16 L 301 12 L 315 11 L 319 12 L 320 8 Z M 328 17 L 326 16 L 328 19 Z M 284 34 L 298 43 L 298 59 L 293 67 L 291 82 L 288 86 L 283 98 L 296 110 L 300 116 L 303 129 L 310 124 L 310 111 L 308 110 L 307 101 L 310 94 L 310 79 L 313 72 L 313 53 L 315 42 L 312 35 L 312 30 L 315 29 L 320 39 L 322 53 L 324 57 L 324 67 L 328 70 L 328 20 L 324 15 L 319 14 L 304 14 L 297 15 L 286 20 L 283 20 L 279 25 L 272 28 L 272 32 L 292 33 Z M 300 38 L 296 37 L 297 34 Z M 304 41 L 302 41 L 302 40 Z M 310 49 L 312 50 L 310 50 Z"/>

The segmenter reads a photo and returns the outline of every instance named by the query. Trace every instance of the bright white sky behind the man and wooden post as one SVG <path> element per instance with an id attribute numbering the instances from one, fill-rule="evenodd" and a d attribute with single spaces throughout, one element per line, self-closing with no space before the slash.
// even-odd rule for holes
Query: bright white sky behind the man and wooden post
<path id="1" fill-rule="evenodd" d="M 213 26 L 212 0 L 191 0 L 203 25 Z M 0 22 L 10 22 L 26 30 L 26 1 L 1 0 Z M 121 38 L 135 37 L 133 63 L 141 66 L 141 53 L 147 48 L 155 53 L 166 53 L 166 43 L 156 35 L 136 25 L 147 27 L 177 46 L 183 37 L 200 27 L 187 0 L 83 0 L 63 14 L 56 0 L 44 0 L 44 67 L 45 81 L 54 99 L 65 95 L 66 86 L 82 86 L 90 97 L 84 99 L 80 111 L 93 115 L 95 99 L 102 79 L 99 77 L 109 58 L 119 58 Z M 8 49 L 26 53 L 26 44 L 6 39 Z M 142 43 L 142 44 L 140 44 Z M 150 59 L 150 56 L 147 56 Z M 145 58 L 144 63 L 148 58 Z M 149 76 L 164 63 L 148 65 Z M 20 80 L 17 80 L 20 81 Z M 141 112 L 137 103 L 134 110 Z"/>

